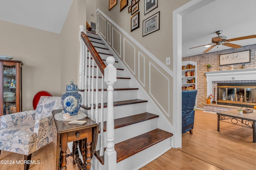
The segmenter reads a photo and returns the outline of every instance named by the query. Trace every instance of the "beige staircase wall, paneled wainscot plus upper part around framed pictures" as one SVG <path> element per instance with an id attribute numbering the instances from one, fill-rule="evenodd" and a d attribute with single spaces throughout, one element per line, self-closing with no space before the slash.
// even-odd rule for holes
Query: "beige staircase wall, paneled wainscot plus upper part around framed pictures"
<path id="1" fill-rule="evenodd" d="M 171 57 L 171 65 L 168 67 L 172 69 L 172 11 L 188 1 L 158 1 L 158 8 L 144 16 L 144 0 L 140 0 L 140 28 L 132 32 L 130 32 L 131 14 L 128 13 L 130 1 L 122 12 L 120 12 L 120 1 L 117 1 L 117 5 L 110 11 L 108 11 L 108 1 L 99 0 L 97 2 L 97 8 L 104 13 L 101 14 L 98 12 L 98 22 L 100 23 L 98 31 L 114 49 L 130 72 L 134 74 L 136 80 L 144 87 L 144 90 L 156 103 L 162 113 L 164 113 L 170 123 L 173 121 L 172 99 L 174 98 L 172 96 L 172 76 L 142 49 L 146 47 L 150 53 L 164 64 L 165 58 Z M 142 21 L 159 11 L 160 30 L 142 37 Z M 116 25 L 111 23 L 108 18 L 113 20 Z M 118 29 L 118 27 L 124 29 L 124 32 Z M 130 34 L 129 36 L 136 39 L 138 43 L 132 42 L 127 34 Z"/>

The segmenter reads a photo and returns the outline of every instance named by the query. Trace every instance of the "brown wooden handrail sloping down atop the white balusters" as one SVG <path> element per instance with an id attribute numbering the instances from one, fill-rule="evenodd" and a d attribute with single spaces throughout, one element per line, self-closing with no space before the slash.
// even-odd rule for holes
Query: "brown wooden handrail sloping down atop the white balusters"
<path id="1" fill-rule="evenodd" d="M 104 76 L 104 68 L 106 68 L 106 64 L 100 57 L 99 53 L 96 51 L 95 47 L 92 45 L 91 41 L 87 37 L 87 35 L 84 32 L 81 32 L 81 37 L 85 43 L 85 45 L 88 48 L 89 53 L 91 53 L 92 58 L 94 59 L 95 63 L 98 65 L 100 72 Z"/>

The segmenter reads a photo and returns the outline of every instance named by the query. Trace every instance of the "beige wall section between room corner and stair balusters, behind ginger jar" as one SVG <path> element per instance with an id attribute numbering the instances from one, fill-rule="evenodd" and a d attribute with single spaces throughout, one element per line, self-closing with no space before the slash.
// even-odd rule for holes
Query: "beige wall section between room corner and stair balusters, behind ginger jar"
<path id="1" fill-rule="evenodd" d="M 60 57 L 60 92 L 65 93 L 66 85 L 74 80 L 78 85 L 78 61 L 79 61 L 79 25 L 86 24 L 86 1 L 74 0 L 64 26 L 61 37 Z"/>

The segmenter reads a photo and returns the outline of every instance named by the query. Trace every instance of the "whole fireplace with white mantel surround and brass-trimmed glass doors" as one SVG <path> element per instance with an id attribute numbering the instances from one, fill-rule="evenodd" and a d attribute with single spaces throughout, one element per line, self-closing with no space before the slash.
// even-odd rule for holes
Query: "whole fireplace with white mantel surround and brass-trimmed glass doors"
<path id="1" fill-rule="evenodd" d="M 217 90 L 217 104 L 256 106 L 256 68 L 205 72 L 207 96 Z"/>

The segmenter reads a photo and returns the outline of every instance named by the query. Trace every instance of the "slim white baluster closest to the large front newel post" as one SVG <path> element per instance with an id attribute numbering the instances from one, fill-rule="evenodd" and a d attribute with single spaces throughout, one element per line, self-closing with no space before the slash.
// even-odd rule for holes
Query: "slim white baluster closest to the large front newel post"
<path id="1" fill-rule="evenodd" d="M 101 74 L 102 79 L 101 79 L 101 100 L 100 100 L 100 156 L 103 156 L 104 154 L 104 131 L 103 131 L 103 127 L 104 127 L 104 114 L 103 114 L 103 110 L 104 110 L 104 88 L 103 88 L 103 74 Z"/>

